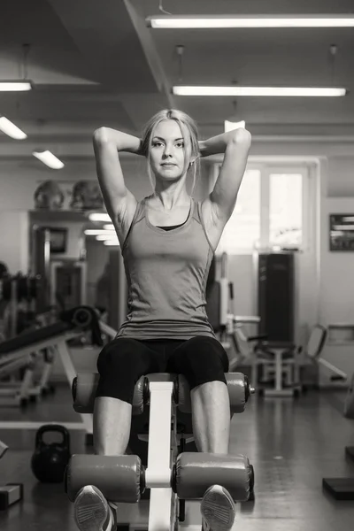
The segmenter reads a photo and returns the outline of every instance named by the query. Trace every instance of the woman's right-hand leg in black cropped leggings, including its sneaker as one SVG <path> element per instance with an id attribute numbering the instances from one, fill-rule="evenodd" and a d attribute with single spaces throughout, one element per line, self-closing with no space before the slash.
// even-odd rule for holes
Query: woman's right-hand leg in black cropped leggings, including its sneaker
<path id="1" fill-rule="evenodd" d="M 222 345 L 204 335 L 193 337 L 174 350 L 167 370 L 183 374 L 189 382 L 197 450 L 227 454 L 231 415 L 225 379 L 228 358 Z M 229 531 L 235 502 L 227 489 L 212 485 L 204 493 L 201 513 L 203 531 Z"/>

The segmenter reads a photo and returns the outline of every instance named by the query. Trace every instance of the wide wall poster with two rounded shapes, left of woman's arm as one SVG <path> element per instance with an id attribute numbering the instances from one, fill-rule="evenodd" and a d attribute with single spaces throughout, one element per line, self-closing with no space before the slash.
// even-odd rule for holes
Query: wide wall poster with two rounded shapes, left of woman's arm
<path id="1" fill-rule="evenodd" d="M 97 181 L 40 181 L 34 194 L 35 210 L 104 211 Z"/>

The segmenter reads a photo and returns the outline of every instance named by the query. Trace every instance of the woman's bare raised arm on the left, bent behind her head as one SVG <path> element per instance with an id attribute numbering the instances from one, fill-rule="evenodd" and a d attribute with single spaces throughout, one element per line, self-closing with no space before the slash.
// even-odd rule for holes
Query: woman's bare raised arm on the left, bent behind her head
<path id="1" fill-rule="evenodd" d="M 119 151 L 141 154 L 141 141 L 110 127 L 96 129 L 93 137 L 97 177 L 104 204 L 112 219 L 117 219 L 123 200 L 135 199 L 127 189 L 119 163 Z M 130 197 L 131 196 L 131 197 Z"/>

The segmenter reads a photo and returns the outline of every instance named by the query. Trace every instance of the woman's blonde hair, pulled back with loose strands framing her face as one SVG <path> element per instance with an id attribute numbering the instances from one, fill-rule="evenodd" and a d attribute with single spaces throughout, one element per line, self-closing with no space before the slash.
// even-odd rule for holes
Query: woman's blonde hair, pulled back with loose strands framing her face
<path id="1" fill-rule="evenodd" d="M 191 143 L 191 156 L 195 158 L 194 164 L 191 166 L 194 168 L 193 172 L 193 186 L 191 190 L 191 196 L 193 196 L 194 189 L 196 187 L 196 179 L 200 175 L 200 159 L 199 159 L 199 146 L 198 146 L 198 130 L 196 127 L 196 122 L 194 119 L 190 118 L 188 114 L 182 111 L 177 111 L 175 109 L 165 109 L 155 114 L 146 126 L 144 127 L 142 133 L 142 154 L 148 159 L 148 174 L 149 180 L 152 189 L 155 192 L 155 183 L 151 174 L 150 167 L 150 149 L 152 144 L 152 139 L 154 137 L 155 129 L 158 127 L 158 124 L 165 119 L 173 119 L 180 126 L 181 134 L 184 141 L 184 168 L 183 174 L 189 170 L 189 161 L 187 160 L 187 150 L 186 150 L 186 138 L 183 135 L 183 126 L 187 129 L 189 133 L 190 143 Z"/>

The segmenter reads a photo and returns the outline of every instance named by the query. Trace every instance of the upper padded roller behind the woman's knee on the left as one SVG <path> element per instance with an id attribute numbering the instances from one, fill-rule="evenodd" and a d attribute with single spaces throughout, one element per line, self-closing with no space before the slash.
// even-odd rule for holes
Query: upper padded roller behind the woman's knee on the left
<path id="1" fill-rule="evenodd" d="M 72 395 L 73 395 L 73 409 L 77 413 L 92 413 L 94 411 L 94 403 L 96 396 L 96 389 L 98 385 L 98 373 L 78 373 L 73 379 Z M 148 381 L 142 376 L 136 382 L 135 392 L 133 398 L 133 415 L 140 415 L 143 411 L 144 401 L 146 403 L 149 392 Z"/>

